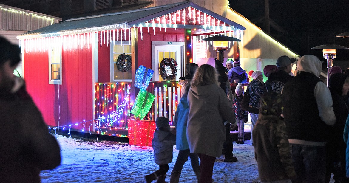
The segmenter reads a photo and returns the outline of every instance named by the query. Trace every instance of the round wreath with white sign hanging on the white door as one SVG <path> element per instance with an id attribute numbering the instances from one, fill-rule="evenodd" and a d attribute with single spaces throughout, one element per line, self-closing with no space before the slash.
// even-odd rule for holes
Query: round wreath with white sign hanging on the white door
<path id="1" fill-rule="evenodd" d="M 170 66 L 170 67 L 166 67 Z M 169 73 L 169 69 L 166 72 L 166 68 L 170 68 L 172 73 Z M 161 74 L 161 78 L 163 78 L 166 81 L 171 81 L 173 79 L 176 79 L 177 75 L 177 70 L 178 70 L 178 64 L 176 60 L 172 58 L 164 58 L 160 62 L 160 67 L 159 67 L 159 74 Z"/>

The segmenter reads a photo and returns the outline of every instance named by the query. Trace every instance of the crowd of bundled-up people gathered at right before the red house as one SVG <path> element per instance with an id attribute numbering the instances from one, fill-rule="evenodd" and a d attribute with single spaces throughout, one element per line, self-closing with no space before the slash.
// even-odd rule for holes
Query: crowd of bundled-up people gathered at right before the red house
<path id="1" fill-rule="evenodd" d="M 316 56 L 299 58 L 292 73 L 295 61 L 280 56 L 263 72 L 248 74 L 237 59 L 226 61 L 225 67 L 220 60 L 215 61 L 215 68 L 187 65 L 188 73 L 180 81 L 185 87 L 175 115 L 176 137 L 170 139 L 168 129 L 167 135 L 161 136 L 169 145 L 168 151 L 161 152 L 171 153 L 171 160 L 164 163 L 166 172 L 173 145 L 179 150 L 170 183 L 180 182 L 188 157 L 199 183 L 213 181 L 217 157 L 238 161 L 233 157 L 230 124 L 237 125 L 236 143 L 243 144 L 248 116 L 262 182 L 328 183 L 331 174 L 336 183 L 349 182 L 349 69 L 333 67 L 327 87 L 319 77 L 322 62 Z M 265 83 L 263 73 L 268 78 Z M 164 130 L 156 125 L 157 130 Z M 157 143 L 155 133 L 153 142 Z M 157 162 L 159 154 L 155 152 L 163 147 L 155 144 Z M 164 165 L 159 164 L 160 170 Z M 146 176 L 148 183 L 166 175 L 158 171 Z M 159 178 L 158 182 L 165 181 Z"/>

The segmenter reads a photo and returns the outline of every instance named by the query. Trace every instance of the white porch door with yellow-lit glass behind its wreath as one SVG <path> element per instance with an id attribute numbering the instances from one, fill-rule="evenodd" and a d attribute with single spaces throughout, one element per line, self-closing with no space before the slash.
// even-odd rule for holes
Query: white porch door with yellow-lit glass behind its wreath
<path id="1" fill-rule="evenodd" d="M 159 75 L 159 64 L 164 58 L 172 58 L 178 64 L 178 70 L 176 74 L 176 79 L 174 81 L 179 81 L 179 77 L 183 77 L 183 46 L 168 46 L 168 45 L 154 45 L 154 60 L 153 60 L 153 81 L 164 81 Z"/>

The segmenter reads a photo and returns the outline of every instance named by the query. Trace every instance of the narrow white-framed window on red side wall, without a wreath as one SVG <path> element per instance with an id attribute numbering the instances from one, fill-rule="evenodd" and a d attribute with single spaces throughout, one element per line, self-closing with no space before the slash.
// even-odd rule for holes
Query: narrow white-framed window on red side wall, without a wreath
<path id="1" fill-rule="evenodd" d="M 62 84 L 62 45 L 50 46 L 49 52 L 49 84 Z"/>

